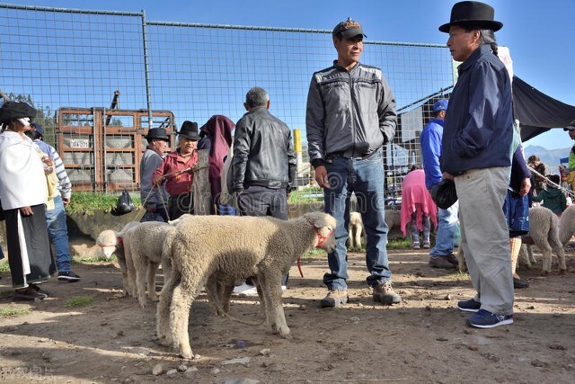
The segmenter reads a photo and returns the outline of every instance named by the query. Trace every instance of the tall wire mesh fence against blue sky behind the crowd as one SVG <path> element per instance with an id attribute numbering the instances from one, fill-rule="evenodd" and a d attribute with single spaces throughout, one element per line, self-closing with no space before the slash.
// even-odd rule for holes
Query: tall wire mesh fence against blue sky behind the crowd
<path id="1" fill-rule="evenodd" d="M 178 129 L 186 120 L 201 126 L 215 114 L 237 121 L 244 113 L 245 93 L 258 85 L 270 94 L 270 112 L 301 130 L 299 184 L 310 181 L 305 101 L 312 74 L 337 58 L 331 31 L 153 22 L 145 12 L 10 4 L 0 4 L 0 30 L 0 89 L 40 110 L 37 120 L 47 141 L 61 151 L 79 150 L 57 143 L 56 133 L 63 129 L 58 124 L 66 119 L 92 127 L 93 135 L 105 134 L 108 127 L 141 135 L 158 124 Z M 420 163 L 419 132 L 431 117 L 430 105 L 454 83 L 452 60 L 445 46 L 366 40 L 362 62 L 383 69 L 401 113 L 394 144 L 386 146 L 386 190 L 394 203 L 403 175 Z M 102 119 L 94 117 L 96 111 L 102 111 Z M 173 118 L 158 123 L 155 112 Z M 72 116 L 58 120 L 66 114 Z M 84 120 L 78 119 L 81 115 Z M 94 127 L 96 122 L 102 127 Z M 74 129 L 67 127 L 72 135 Z M 90 147 L 102 143 L 94 137 L 66 140 L 87 142 L 94 153 L 119 149 L 113 140 L 103 148 Z M 117 142 L 125 146 L 134 140 Z M 139 158 L 130 156 L 122 161 Z M 110 190 L 109 176 L 119 165 L 103 161 L 102 172 L 109 175 L 99 183 Z M 95 172 L 83 180 L 95 185 Z M 128 174 L 125 181 L 137 187 Z"/>

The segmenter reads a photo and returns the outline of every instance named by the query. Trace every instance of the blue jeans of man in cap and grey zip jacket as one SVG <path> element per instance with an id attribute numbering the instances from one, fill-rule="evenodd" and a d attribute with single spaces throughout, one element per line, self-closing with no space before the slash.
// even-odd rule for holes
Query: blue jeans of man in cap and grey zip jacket
<path id="1" fill-rule="evenodd" d="M 392 272 L 387 261 L 388 227 L 385 223 L 384 162 L 382 150 L 364 159 L 333 157 L 327 159 L 330 188 L 323 189 L 325 212 L 338 222 L 334 236 L 336 249 L 327 256 L 330 272 L 323 275 L 323 283 L 329 290 L 346 290 L 348 257 L 346 241 L 349 233 L 349 200 L 355 192 L 358 211 L 361 213 L 367 235 L 366 263 L 367 284 L 376 287 L 391 280 Z"/>

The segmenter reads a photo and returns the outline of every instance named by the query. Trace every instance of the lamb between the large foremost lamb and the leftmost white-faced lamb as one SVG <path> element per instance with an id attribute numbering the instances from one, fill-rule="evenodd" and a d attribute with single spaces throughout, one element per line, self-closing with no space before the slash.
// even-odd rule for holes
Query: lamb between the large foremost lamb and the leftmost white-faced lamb
<path id="1" fill-rule="evenodd" d="M 152 301 L 157 301 L 155 273 L 160 263 L 164 270 L 164 281 L 170 277 L 172 261 L 169 257 L 162 257 L 162 248 L 168 235 L 175 230 L 175 227 L 168 223 L 147 221 L 129 228 L 124 233 L 123 243 L 128 277 L 136 277 L 137 301 L 141 308 L 146 308 L 146 282 L 147 297 Z"/>

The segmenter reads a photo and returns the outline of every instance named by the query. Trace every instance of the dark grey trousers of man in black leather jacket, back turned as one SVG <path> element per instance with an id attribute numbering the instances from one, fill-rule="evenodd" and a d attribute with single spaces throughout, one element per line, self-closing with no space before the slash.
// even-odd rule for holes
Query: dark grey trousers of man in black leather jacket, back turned
<path id="1" fill-rule="evenodd" d="M 273 189 L 252 185 L 237 198 L 237 205 L 242 216 L 271 216 L 288 219 L 288 193 L 284 188 Z M 281 278 L 281 285 L 288 285 L 289 273 Z M 246 281 L 252 284 L 252 281 Z M 252 284 L 253 285 L 253 284 Z"/>

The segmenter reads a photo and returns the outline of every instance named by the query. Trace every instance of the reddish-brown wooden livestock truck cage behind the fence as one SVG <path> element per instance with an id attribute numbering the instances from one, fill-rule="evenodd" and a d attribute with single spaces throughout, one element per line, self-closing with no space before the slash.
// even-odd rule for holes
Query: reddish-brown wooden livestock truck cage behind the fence
<path id="1" fill-rule="evenodd" d="M 57 152 L 74 191 L 118 192 L 139 189 L 139 164 L 146 132 L 164 128 L 173 147 L 176 129 L 169 111 L 59 108 Z"/>

